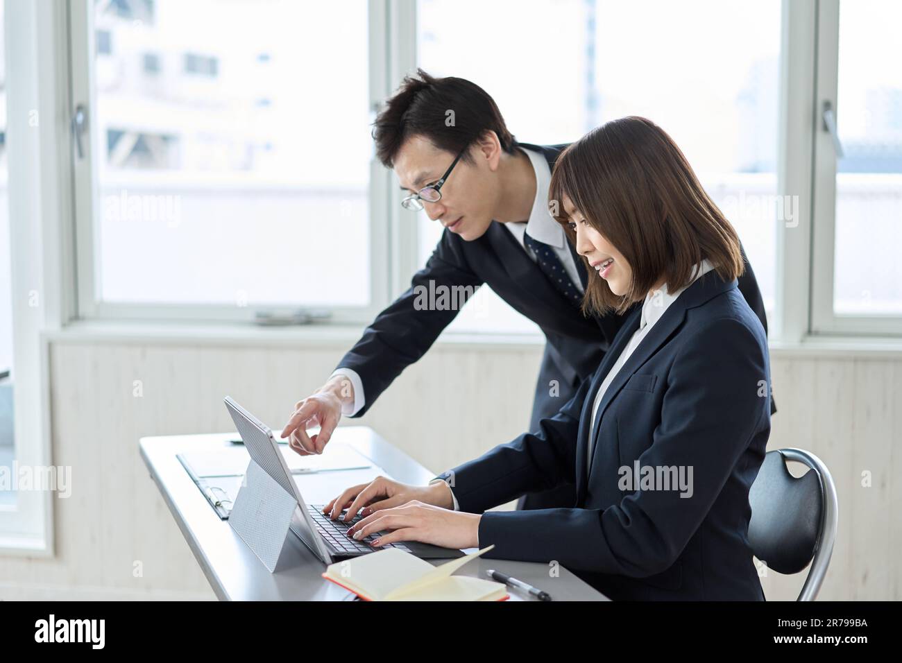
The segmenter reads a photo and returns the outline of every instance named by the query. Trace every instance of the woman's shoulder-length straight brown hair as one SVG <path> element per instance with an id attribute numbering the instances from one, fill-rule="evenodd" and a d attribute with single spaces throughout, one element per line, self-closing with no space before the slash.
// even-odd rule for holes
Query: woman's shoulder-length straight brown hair
<path id="1" fill-rule="evenodd" d="M 586 313 L 623 313 L 662 279 L 673 292 L 691 282 L 707 259 L 724 281 L 743 272 L 739 236 L 704 192 L 686 156 L 657 124 L 622 117 L 596 127 L 557 158 L 549 209 L 575 244 L 564 196 L 632 269 L 630 290 L 615 295 L 603 279 L 589 279 Z M 586 262 L 590 274 L 592 268 Z"/>

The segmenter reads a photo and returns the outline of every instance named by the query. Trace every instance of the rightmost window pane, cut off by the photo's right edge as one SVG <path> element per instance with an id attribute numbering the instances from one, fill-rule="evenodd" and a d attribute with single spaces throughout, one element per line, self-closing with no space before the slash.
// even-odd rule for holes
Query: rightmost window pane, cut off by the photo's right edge
<path id="1" fill-rule="evenodd" d="M 874 17 L 879 16 L 879 21 Z M 902 5 L 840 5 L 833 311 L 902 315 Z"/>

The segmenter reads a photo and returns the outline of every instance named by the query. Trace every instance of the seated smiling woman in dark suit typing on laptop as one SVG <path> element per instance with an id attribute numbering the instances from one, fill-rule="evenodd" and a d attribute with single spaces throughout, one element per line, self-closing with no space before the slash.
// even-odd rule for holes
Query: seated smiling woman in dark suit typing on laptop
<path id="1" fill-rule="evenodd" d="M 428 486 L 380 477 L 326 511 L 363 509 L 349 534 L 387 531 L 377 545 L 493 545 L 485 557 L 559 563 L 615 600 L 763 600 L 747 535 L 770 369 L 737 290 L 735 230 L 640 117 L 571 145 L 549 196 L 592 268 L 584 308 L 641 302 L 593 379 L 538 430 Z M 572 509 L 486 511 L 562 483 L 575 483 Z"/>

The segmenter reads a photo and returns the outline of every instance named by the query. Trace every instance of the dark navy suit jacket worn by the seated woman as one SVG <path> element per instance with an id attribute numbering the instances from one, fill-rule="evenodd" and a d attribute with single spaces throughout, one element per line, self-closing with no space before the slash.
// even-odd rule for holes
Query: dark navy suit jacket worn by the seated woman
<path id="1" fill-rule="evenodd" d="M 536 432 L 442 478 L 474 513 L 575 482 L 575 508 L 483 513 L 485 557 L 557 562 L 612 599 L 763 600 L 748 529 L 770 432 L 768 342 L 736 281 L 704 274 L 651 327 L 603 394 L 587 469 L 595 396 L 640 313 Z M 637 467 L 683 468 L 691 481 L 637 486 Z"/>

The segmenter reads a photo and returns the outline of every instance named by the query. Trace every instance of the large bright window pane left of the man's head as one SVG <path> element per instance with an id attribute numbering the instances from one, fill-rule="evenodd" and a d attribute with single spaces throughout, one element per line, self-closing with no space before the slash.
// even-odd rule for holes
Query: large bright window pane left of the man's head
<path id="1" fill-rule="evenodd" d="M 366 12 L 95 7 L 100 299 L 368 305 Z"/>

